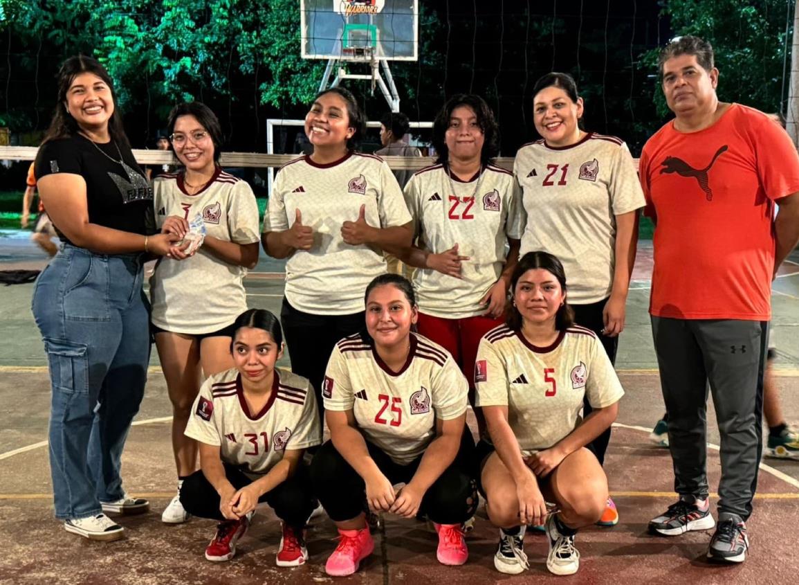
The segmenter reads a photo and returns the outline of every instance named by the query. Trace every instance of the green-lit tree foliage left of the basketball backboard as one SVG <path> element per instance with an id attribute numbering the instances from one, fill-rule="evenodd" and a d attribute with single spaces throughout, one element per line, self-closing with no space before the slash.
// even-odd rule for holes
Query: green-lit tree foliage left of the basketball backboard
<path id="1" fill-rule="evenodd" d="M 32 0 L 13 8 L 5 22 L 22 44 L 43 38 L 51 54 L 99 58 L 123 106 L 163 110 L 224 97 L 287 107 L 308 101 L 321 75 L 320 62 L 300 58 L 295 0 Z"/>

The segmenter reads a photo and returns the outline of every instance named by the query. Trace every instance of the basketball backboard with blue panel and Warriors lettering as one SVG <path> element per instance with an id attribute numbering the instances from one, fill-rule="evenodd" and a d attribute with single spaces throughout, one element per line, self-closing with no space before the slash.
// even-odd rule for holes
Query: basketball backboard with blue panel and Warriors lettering
<path id="1" fill-rule="evenodd" d="M 418 58 L 418 0 L 300 0 L 302 58 Z"/>

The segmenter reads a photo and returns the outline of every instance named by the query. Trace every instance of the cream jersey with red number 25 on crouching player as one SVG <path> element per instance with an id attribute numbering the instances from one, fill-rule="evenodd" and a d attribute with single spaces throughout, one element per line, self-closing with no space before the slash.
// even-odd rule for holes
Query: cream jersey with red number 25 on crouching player
<path id="1" fill-rule="evenodd" d="M 360 334 L 345 337 L 333 348 L 322 387 L 325 410 L 352 410 L 366 439 L 401 465 L 435 439 L 436 419 L 466 412 L 467 392 L 447 350 L 415 333 L 400 372 L 392 372 Z"/>

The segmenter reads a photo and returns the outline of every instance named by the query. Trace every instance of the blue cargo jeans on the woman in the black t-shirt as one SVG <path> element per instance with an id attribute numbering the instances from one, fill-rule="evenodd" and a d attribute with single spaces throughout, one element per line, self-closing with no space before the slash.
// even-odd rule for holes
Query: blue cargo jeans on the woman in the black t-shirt
<path id="1" fill-rule="evenodd" d="M 124 495 L 120 458 L 144 397 L 149 311 L 138 254 L 65 245 L 39 276 L 33 312 L 50 364 L 50 472 L 57 518 Z"/>

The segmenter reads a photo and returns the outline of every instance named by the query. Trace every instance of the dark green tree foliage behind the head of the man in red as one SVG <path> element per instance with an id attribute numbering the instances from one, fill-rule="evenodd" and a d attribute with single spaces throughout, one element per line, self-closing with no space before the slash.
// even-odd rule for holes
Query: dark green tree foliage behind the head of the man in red
<path id="1" fill-rule="evenodd" d="M 714 47 L 720 71 L 718 96 L 765 112 L 785 111 L 793 0 L 661 0 L 674 36 L 693 34 Z M 659 50 L 642 55 L 639 69 L 658 70 Z M 786 52 L 787 60 L 786 60 Z M 786 66 L 787 63 L 787 66 Z M 654 88 L 658 113 L 669 114 L 660 89 Z"/>

